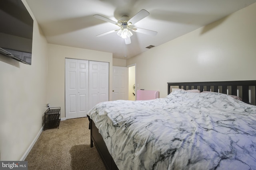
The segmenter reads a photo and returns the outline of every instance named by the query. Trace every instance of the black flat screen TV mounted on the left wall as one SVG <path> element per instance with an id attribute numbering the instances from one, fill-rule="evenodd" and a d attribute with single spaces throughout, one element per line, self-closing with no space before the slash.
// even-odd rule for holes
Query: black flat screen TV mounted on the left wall
<path id="1" fill-rule="evenodd" d="M 22 0 L 0 0 L 0 4 L 0 53 L 31 65 L 32 17 Z"/>

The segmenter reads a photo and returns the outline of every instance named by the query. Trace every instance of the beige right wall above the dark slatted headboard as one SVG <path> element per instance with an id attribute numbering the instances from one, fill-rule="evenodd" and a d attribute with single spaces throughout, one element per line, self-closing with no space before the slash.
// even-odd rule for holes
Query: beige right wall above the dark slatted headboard
<path id="1" fill-rule="evenodd" d="M 138 89 L 167 95 L 167 82 L 256 80 L 256 3 L 127 60 Z"/>

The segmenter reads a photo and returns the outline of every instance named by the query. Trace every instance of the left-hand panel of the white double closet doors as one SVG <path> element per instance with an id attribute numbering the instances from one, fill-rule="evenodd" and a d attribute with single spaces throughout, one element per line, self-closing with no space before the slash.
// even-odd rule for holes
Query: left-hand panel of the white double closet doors
<path id="1" fill-rule="evenodd" d="M 86 60 L 65 60 L 66 119 L 86 117 L 89 111 L 88 65 Z"/>

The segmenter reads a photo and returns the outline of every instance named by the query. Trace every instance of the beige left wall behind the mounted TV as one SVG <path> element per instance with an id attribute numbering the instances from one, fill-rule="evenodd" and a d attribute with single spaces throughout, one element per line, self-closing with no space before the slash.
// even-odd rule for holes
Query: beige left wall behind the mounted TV
<path id="1" fill-rule="evenodd" d="M 34 19 L 32 65 L 0 55 L 0 160 L 20 160 L 42 128 L 46 76 L 47 42 Z"/>

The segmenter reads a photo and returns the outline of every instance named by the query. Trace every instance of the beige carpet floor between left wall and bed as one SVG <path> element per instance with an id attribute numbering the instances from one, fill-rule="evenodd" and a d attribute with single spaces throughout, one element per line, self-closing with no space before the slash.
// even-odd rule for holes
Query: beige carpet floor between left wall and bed
<path id="1" fill-rule="evenodd" d="M 106 170 L 96 148 L 90 148 L 88 126 L 84 117 L 42 131 L 25 159 L 28 170 Z"/>

